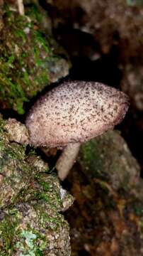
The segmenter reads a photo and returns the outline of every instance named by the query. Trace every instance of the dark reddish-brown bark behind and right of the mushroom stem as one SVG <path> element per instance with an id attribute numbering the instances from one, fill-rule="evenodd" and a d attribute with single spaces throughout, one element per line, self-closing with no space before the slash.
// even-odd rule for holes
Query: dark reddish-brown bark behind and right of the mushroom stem
<path id="1" fill-rule="evenodd" d="M 68 181 L 76 198 L 67 213 L 72 255 L 143 255 L 142 179 L 118 132 L 83 144 Z"/>

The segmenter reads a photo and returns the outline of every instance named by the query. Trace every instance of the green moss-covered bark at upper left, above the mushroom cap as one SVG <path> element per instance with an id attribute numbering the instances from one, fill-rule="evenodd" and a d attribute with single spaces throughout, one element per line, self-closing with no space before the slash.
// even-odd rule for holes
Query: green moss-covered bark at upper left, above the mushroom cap
<path id="1" fill-rule="evenodd" d="M 38 28 L 38 10 L 30 15 L 31 20 L 6 9 L 0 33 L 0 102 L 19 114 L 24 113 L 24 102 L 50 84 L 50 65 L 57 61 L 50 38 L 47 41 Z"/>

